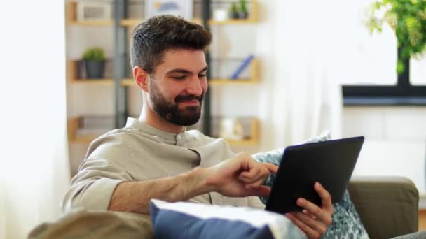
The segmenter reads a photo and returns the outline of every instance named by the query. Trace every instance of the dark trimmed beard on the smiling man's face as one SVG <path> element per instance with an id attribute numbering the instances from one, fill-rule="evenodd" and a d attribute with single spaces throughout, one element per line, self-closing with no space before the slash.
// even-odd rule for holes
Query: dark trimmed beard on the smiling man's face
<path id="1" fill-rule="evenodd" d="M 179 95 L 174 99 L 174 103 L 170 103 L 165 99 L 163 94 L 160 93 L 160 90 L 156 86 L 155 80 L 151 78 L 149 98 L 153 103 L 153 110 L 160 115 L 163 119 L 167 120 L 172 124 L 177 124 L 180 126 L 190 126 L 198 122 L 201 116 L 201 103 L 204 92 L 201 96 L 190 95 Z M 191 101 L 197 99 L 200 101 L 198 106 L 185 106 L 183 109 L 179 109 L 179 102 L 181 101 Z"/>

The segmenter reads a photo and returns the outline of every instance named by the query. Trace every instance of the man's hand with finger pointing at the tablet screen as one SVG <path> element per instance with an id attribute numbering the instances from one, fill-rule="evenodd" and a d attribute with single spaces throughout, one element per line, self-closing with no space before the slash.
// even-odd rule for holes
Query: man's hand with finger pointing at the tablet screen
<path id="1" fill-rule="evenodd" d="M 207 185 L 224 196 L 268 196 L 270 188 L 263 186 L 269 173 L 277 173 L 274 164 L 259 163 L 249 154 L 234 157 L 207 169 Z"/>

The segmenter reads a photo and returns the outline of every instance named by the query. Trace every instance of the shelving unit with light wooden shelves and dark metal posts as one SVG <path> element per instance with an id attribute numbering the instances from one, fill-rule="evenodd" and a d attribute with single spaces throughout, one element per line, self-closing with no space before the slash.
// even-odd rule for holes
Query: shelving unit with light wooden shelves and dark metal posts
<path id="1" fill-rule="evenodd" d="M 126 18 L 127 13 L 123 8 L 124 6 L 118 6 L 117 3 L 118 0 L 112 1 L 114 8 L 120 8 L 118 12 L 120 14 L 114 15 L 114 19 L 106 20 L 106 21 L 92 21 L 92 22 L 78 22 L 76 17 L 76 10 L 77 10 L 77 2 L 76 1 L 68 1 L 67 2 L 67 24 L 71 26 L 76 27 L 111 27 L 114 29 L 114 41 L 115 41 L 115 54 L 116 57 L 119 55 L 117 49 L 120 48 L 128 48 L 127 45 L 121 45 L 121 44 L 127 44 L 127 43 L 121 43 L 120 41 L 117 41 L 118 37 L 117 34 L 123 34 L 127 35 L 128 33 L 128 27 L 135 27 L 140 22 L 143 22 L 142 18 Z M 125 2 L 125 1 L 124 1 Z M 249 18 L 245 20 L 225 20 L 225 21 L 217 21 L 212 20 L 209 17 L 208 13 L 211 11 L 211 8 L 209 6 L 211 1 L 205 1 L 202 0 L 202 4 L 207 4 L 205 6 L 202 6 L 202 12 L 204 15 L 204 19 L 193 19 L 191 22 L 195 22 L 197 24 L 205 24 L 205 27 L 208 29 L 209 25 L 238 25 L 238 24 L 255 24 L 259 22 L 259 15 L 258 15 L 258 3 L 256 1 L 249 1 Z M 207 8 L 206 8 L 207 6 Z M 123 12 L 121 12 L 123 11 Z M 207 16 L 207 17 L 206 17 Z M 121 29 L 120 29 L 121 28 Z M 118 31 L 120 29 L 120 31 Z M 123 30 L 123 31 L 121 31 Z M 207 63 L 209 62 L 209 55 L 206 55 Z M 125 57 L 123 57 L 125 59 Z M 104 78 L 104 79 L 84 79 L 84 78 L 78 78 L 78 60 L 75 59 L 69 59 L 67 61 L 67 81 L 71 85 L 110 85 L 111 87 L 114 87 L 115 93 L 118 94 L 118 89 L 121 92 L 124 92 L 121 96 L 116 96 L 117 99 L 125 98 L 124 100 L 121 99 L 121 101 L 124 102 L 124 108 L 127 107 L 127 91 L 128 87 L 137 87 L 134 80 L 132 78 L 125 78 L 125 74 L 123 72 L 116 73 L 118 68 L 121 68 L 125 64 L 123 62 L 123 59 L 120 60 L 120 63 L 114 63 L 114 78 Z M 118 64 L 118 65 L 117 65 Z M 253 59 L 252 62 L 249 65 L 249 78 L 247 79 L 226 79 L 226 78 L 209 78 L 209 85 L 211 86 L 218 86 L 218 87 L 225 87 L 226 85 L 253 85 L 259 82 L 259 59 Z M 207 96 L 205 97 L 205 109 L 207 108 L 209 111 L 209 100 L 207 100 Z M 123 110 L 121 108 L 121 110 Z M 127 116 L 127 110 L 124 110 L 122 112 L 121 110 L 118 110 L 118 108 L 115 109 L 116 115 L 120 115 L 123 119 Z M 207 114 L 209 115 L 209 113 Z M 210 117 L 210 116 L 208 116 Z M 80 134 L 78 133 L 79 129 L 83 127 L 82 125 L 83 117 L 82 116 L 76 116 L 71 117 L 68 120 L 68 134 L 69 134 L 69 142 L 70 143 L 78 143 L 78 144 L 88 144 L 97 136 L 99 135 L 88 135 L 88 134 Z M 226 139 L 230 145 L 256 145 L 259 143 L 259 121 L 258 119 L 252 119 L 251 122 L 251 132 L 249 138 L 244 138 L 242 140 L 231 140 Z"/>

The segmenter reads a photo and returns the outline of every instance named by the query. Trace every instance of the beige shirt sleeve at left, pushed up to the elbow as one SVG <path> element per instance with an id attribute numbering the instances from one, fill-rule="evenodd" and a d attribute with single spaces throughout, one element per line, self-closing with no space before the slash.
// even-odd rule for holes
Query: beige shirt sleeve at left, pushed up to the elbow
<path id="1" fill-rule="evenodd" d="M 118 163 L 126 157 L 128 151 L 120 136 L 102 136 L 93 141 L 78 173 L 71 180 L 71 187 L 62 198 L 62 212 L 72 208 L 108 210 L 117 185 L 132 180 Z"/>

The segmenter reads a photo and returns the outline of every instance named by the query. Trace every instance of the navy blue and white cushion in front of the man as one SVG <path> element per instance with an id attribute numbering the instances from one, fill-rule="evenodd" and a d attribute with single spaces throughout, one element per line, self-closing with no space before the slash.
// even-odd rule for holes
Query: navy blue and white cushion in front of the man
<path id="1" fill-rule="evenodd" d="M 151 218 L 156 238 L 305 238 L 286 217 L 255 208 L 153 199 Z"/>

